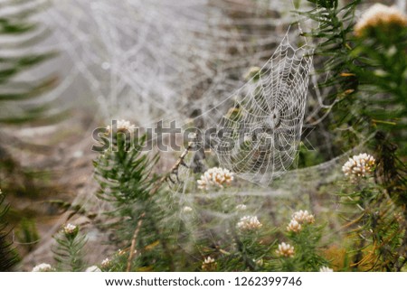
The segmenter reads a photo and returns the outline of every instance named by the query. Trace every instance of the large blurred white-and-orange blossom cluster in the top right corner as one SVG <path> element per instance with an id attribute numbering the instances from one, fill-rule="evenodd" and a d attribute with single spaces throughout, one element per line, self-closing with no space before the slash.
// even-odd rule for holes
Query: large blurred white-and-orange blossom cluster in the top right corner
<path id="1" fill-rule="evenodd" d="M 362 36 L 369 28 L 381 25 L 407 26 L 407 16 L 395 6 L 375 4 L 367 9 L 355 24 L 355 35 Z"/>

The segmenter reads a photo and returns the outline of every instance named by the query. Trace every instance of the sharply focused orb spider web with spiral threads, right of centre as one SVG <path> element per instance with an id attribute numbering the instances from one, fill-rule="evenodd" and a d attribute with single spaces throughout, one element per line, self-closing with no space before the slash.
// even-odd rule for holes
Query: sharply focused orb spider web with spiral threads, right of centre
<path id="1" fill-rule="evenodd" d="M 232 110 L 217 125 L 222 133 L 211 146 L 221 166 L 261 185 L 289 169 L 300 141 L 311 65 L 306 48 L 293 48 L 286 33 L 259 73 L 233 94 Z"/>

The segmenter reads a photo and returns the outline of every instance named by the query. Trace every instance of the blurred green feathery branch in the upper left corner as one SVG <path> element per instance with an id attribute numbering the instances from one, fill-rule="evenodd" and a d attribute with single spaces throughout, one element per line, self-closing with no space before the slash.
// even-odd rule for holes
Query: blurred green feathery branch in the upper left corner
<path id="1" fill-rule="evenodd" d="M 9 5 L 14 9 L 0 17 L 0 124 L 24 124 L 54 118 L 55 113 L 50 115 L 52 102 L 41 97 L 55 87 L 56 76 L 33 80 L 22 77 L 56 55 L 55 51 L 33 52 L 33 48 L 50 33 L 40 23 L 31 20 L 43 5 L 36 0 Z M 6 10 L 7 5 L 1 8 Z"/>

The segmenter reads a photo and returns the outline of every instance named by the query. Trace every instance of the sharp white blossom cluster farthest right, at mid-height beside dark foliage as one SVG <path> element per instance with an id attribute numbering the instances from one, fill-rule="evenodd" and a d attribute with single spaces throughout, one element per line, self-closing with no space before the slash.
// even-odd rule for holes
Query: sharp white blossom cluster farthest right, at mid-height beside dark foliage
<path id="1" fill-rule="evenodd" d="M 354 155 L 342 166 L 342 172 L 352 178 L 364 177 L 366 173 L 373 171 L 374 162 L 372 155 L 365 153 Z"/>

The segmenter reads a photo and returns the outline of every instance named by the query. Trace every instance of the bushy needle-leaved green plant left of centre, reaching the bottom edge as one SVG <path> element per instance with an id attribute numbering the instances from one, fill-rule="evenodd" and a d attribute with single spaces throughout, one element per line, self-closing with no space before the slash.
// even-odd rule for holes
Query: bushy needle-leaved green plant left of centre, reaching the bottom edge
<path id="1" fill-rule="evenodd" d="M 99 198 L 111 206 L 106 212 L 107 225 L 129 263 L 112 262 L 110 267 L 175 270 L 178 247 L 169 241 L 177 237 L 178 222 L 173 220 L 177 206 L 170 193 L 160 190 L 162 181 L 151 173 L 157 156 L 142 151 L 146 136 L 133 137 L 128 129 L 109 133 L 112 144 L 94 161 L 95 177 L 100 184 Z"/>

